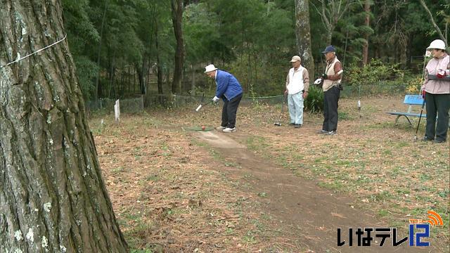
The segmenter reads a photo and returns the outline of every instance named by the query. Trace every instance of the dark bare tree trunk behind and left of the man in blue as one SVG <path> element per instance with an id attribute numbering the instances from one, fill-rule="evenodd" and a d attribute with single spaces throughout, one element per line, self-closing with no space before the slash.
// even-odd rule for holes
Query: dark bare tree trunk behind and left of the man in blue
<path id="1" fill-rule="evenodd" d="M 184 43 L 181 21 L 183 18 L 183 0 L 171 0 L 172 22 L 174 24 L 174 34 L 176 39 L 175 48 L 175 69 L 174 79 L 172 80 L 172 93 L 181 91 L 181 80 L 183 79 L 184 63 Z"/>

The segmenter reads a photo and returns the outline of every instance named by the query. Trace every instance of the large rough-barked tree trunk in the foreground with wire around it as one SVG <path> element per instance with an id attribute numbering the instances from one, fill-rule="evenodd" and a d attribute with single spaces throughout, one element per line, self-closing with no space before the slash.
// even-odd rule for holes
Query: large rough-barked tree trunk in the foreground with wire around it
<path id="1" fill-rule="evenodd" d="M 58 0 L 1 1 L 0 65 L 64 37 Z M 127 252 L 67 41 L 0 69 L 0 252 Z"/>

